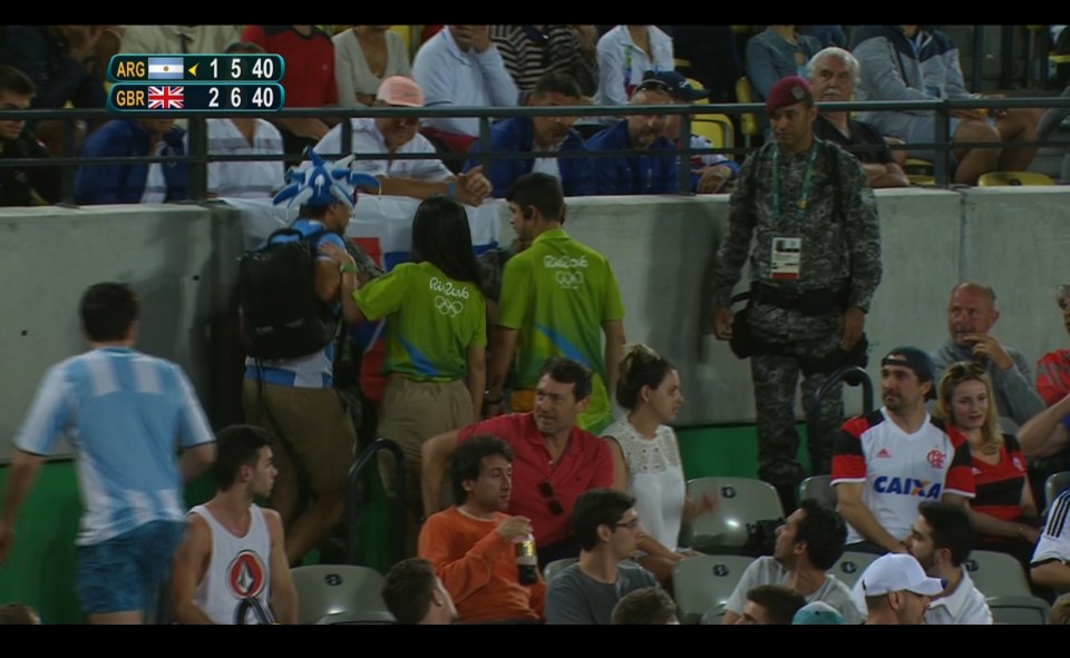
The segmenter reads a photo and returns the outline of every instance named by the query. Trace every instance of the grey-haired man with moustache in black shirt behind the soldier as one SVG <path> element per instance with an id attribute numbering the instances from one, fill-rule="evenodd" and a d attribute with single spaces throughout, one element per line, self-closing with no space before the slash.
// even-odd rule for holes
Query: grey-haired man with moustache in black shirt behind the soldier
<path id="1" fill-rule="evenodd" d="M 881 130 L 873 124 L 856 121 L 847 111 L 821 109 L 821 102 L 846 102 L 854 99 L 858 80 L 858 60 L 843 48 L 830 47 L 818 51 L 806 67 L 814 98 L 818 102 L 818 116 L 814 134 L 850 151 L 866 171 L 869 186 L 907 187 L 909 180 L 903 167 L 892 155 Z M 899 144 L 902 141 L 895 140 Z M 906 154 L 906 151 L 901 151 Z"/>

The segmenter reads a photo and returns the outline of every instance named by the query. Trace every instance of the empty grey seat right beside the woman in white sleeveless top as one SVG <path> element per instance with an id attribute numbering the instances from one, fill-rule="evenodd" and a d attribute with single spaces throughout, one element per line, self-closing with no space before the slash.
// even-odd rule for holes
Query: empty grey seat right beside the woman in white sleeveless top
<path id="1" fill-rule="evenodd" d="M 699 500 L 713 493 L 717 508 L 691 520 L 691 548 L 706 553 L 740 553 L 747 546 L 747 524 L 784 519 L 776 488 L 751 478 L 696 478 L 688 481 L 688 497 Z"/>

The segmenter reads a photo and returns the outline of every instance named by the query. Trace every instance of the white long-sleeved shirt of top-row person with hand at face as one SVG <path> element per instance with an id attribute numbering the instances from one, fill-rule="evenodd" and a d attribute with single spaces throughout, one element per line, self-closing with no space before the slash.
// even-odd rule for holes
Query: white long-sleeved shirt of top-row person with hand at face
<path id="1" fill-rule="evenodd" d="M 492 41 L 483 52 L 463 52 L 449 28 L 428 39 L 412 60 L 412 79 L 424 90 L 425 107 L 515 107 L 519 90 Z M 444 132 L 479 137 L 479 119 L 425 119 Z"/>

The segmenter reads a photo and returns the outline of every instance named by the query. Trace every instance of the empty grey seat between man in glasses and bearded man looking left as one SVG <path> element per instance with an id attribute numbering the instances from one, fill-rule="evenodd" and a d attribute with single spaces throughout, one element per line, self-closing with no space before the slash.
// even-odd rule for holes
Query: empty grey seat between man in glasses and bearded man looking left
<path id="1" fill-rule="evenodd" d="M 751 562 L 748 556 L 700 556 L 673 564 L 672 592 L 680 623 L 698 623 L 707 612 L 718 613 L 718 607 L 722 615 Z"/>

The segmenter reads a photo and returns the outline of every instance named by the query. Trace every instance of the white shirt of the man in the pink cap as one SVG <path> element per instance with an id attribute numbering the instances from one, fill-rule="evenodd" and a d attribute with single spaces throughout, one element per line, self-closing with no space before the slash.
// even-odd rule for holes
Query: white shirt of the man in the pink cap
<path id="1" fill-rule="evenodd" d="M 387 143 L 379 131 L 374 119 L 350 119 L 353 127 L 352 143 L 342 147 L 342 124 L 331 128 L 330 132 L 315 145 L 319 154 L 386 154 Z M 395 154 L 432 154 L 435 147 L 426 137 L 416 134 L 411 140 L 402 144 Z M 307 166 L 311 166 L 307 164 Z M 412 178 L 415 180 L 446 180 L 454 174 L 438 159 L 428 160 L 353 160 L 353 171 L 372 176 L 390 176 L 392 178 Z"/>

